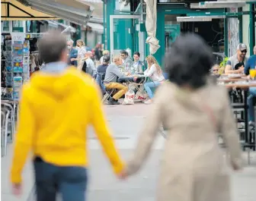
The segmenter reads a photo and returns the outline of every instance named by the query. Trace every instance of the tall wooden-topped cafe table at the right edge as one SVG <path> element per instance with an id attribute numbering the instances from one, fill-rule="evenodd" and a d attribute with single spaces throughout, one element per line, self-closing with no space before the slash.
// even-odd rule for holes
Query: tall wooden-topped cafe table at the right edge
<path id="1" fill-rule="evenodd" d="M 249 83 L 228 83 L 224 84 L 226 88 L 232 89 L 232 88 L 239 88 L 244 91 L 244 107 L 243 109 L 245 110 L 245 144 L 250 143 L 249 142 L 249 136 L 248 136 L 248 105 L 247 105 L 247 98 L 248 98 L 248 89 L 250 87 L 256 87 L 256 82 L 249 82 Z"/>

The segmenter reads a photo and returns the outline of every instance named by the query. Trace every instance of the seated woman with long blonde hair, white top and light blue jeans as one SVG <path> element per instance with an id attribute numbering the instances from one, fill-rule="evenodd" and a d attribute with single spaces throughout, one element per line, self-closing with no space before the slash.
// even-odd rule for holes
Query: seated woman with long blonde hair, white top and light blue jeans
<path id="1" fill-rule="evenodd" d="M 146 90 L 146 93 L 148 93 L 149 95 L 149 100 L 147 100 L 145 104 L 150 104 L 152 103 L 152 98 L 154 96 L 152 89 L 159 86 L 165 80 L 165 77 L 163 76 L 162 69 L 158 64 L 158 61 L 156 61 L 155 57 L 153 57 L 152 55 L 149 55 L 146 58 L 146 61 L 148 64 L 148 68 L 144 72 L 144 74 L 147 77 L 150 77 L 152 81 L 144 83 L 144 88 Z"/>

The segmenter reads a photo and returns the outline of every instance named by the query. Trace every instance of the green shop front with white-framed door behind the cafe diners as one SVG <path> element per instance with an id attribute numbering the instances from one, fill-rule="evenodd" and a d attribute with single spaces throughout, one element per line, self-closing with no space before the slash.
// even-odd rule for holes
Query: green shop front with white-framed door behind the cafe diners
<path id="1" fill-rule="evenodd" d="M 211 2 L 211 1 L 208 1 Z M 163 65 L 162 57 L 181 33 L 197 33 L 213 47 L 213 52 L 232 55 L 238 42 L 248 35 L 250 53 L 255 45 L 255 4 L 245 5 L 203 5 L 199 1 L 161 1 L 157 3 L 156 38 L 160 48 L 154 54 Z M 146 44 L 146 3 L 131 0 L 129 5 L 120 5 L 118 0 L 104 2 L 104 44 L 111 55 L 128 49 L 130 54 L 139 51 L 142 60 L 150 54 Z M 248 17 L 249 27 L 243 27 Z M 196 18 L 196 20 L 193 18 Z M 243 19 L 244 18 L 244 19 Z M 243 36 L 244 35 L 244 36 Z"/>

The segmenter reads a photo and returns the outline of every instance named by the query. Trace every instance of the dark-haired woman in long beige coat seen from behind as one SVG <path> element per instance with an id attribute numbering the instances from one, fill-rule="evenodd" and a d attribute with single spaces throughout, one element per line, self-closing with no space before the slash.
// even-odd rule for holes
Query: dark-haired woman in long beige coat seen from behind
<path id="1" fill-rule="evenodd" d="M 121 178 L 135 174 L 161 124 L 167 129 L 158 201 L 229 201 L 229 171 L 218 145 L 222 135 L 234 170 L 241 150 L 227 90 L 209 79 L 212 52 L 199 36 L 181 36 L 165 58 L 169 80 L 159 87 L 133 158 Z"/>

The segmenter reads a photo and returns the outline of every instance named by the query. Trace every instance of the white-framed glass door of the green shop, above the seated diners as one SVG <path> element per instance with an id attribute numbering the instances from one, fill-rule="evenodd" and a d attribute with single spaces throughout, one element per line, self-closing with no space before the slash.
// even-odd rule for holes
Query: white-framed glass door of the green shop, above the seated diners
<path id="1" fill-rule="evenodd" d="M 139 15 L 110 15 L 110 56 L 111 61 L 121 50 L 126 50 L 130 57 L 133 52 L 144 55 L 144 41 L 139 28 Z"/>

